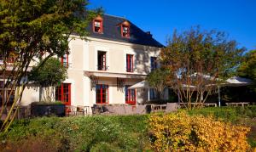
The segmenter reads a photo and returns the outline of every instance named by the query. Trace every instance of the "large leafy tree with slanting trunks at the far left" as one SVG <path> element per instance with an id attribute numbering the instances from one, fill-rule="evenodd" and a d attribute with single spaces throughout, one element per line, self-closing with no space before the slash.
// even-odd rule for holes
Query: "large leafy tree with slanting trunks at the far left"
<path id="1" fill-rule="evenodd" d="M 50 57 L 67 53 L 71 39 L 87 35 L 85 27 L 96 16 L 96 11 L 87 10 L 87 4 L 86 0 L 0 1 L 0 76 L 3 90 L 9 88 L 16 94 L 0 131 L 6 132 L 15 118 L 12 113 L 17 112 L 13 110 L 20 103 L 32 61 L 44 54 L 44 65 Z M 9 97 L 3 94 L 0 117 Z"/>

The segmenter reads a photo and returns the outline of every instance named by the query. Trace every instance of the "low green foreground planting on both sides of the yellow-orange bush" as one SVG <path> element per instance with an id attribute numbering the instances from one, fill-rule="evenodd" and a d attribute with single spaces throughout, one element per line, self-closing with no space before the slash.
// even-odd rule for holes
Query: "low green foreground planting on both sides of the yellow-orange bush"
<path id="1" fill-rule="evenodd" d="M 206 108 L 189 115 L 214 115 L 223 121 L 252 127 L 248 142 L 256 147 L 256 107 Z M 0 133 L 3 151 L 147 151 L 150 115 L 43 117 L 15 121 Z"/>

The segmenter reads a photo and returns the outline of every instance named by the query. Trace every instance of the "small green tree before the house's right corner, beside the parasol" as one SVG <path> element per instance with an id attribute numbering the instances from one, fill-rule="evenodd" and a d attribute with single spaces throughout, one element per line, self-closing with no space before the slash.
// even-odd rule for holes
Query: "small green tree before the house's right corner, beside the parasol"
<path id="1" fill-rule="evenodd" d="M 163 98 L 164 89 L 167 87 L 166 79 L 169 71 L 165 69 L 156 69 L 148 74 L 146 82 L 150 87 L 154 87 L 160 100 Z"/>

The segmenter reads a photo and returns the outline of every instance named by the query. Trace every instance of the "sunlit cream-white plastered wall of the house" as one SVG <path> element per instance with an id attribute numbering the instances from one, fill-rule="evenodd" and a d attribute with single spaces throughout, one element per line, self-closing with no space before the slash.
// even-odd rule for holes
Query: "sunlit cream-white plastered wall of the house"
<path id="1" fill-rule="evenodd" d="M 87 41 L 79 38 L 72 40 L 69 48 L 68 78 L 63 83 L 71 84 L 70 100 L 71 105 L 75 106 L 96 104 L 96 87 L 95 84 L 92 86 L 92 78 L 98 80 L 97 84 L 108 85 L 108 104 L 125 104 L 125 85 L 143 81 L 150 72 L 150 57 L 157 57 L 160 53 L 160 48 L 92 37 L 88 37 Z M 97 69 L 98 51 L 106 52 L 107 70 Z M 126 71 L 126 54 L 133 55 L 133 72 Z M 118 85 L 118 82 L 124 84 Z M 147 90 L 137 90 L 137 104 L 147 99 Z M 28 105 L 38 100 L 38 88 L 29 87 L 24 92 L 21 104 Z"/>

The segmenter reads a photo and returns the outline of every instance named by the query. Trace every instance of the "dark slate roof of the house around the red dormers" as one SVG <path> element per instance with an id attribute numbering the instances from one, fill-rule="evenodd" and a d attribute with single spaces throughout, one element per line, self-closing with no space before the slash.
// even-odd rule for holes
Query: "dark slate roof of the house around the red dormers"
<path id="1" fill-rule="evenodd" d="M 95 33 L 93 32 L 92 28 L 92 22 L 88 25 L 88 31 L 90 31 L 89 37 L 95 37 L 95 38 L 102 38 L 107 40 L 113 40 L 118 42 L 129 42 L 134 44 L 141 44 L 146 46 L 152 46 L 157 48 L 163 48 L 164 46 L 160 43 L 154 40 L 154 38 L 150 35 L 148 35 L 146 32 L 141 30 L 137 27 L 137 25 L 134 25 L 131 23 L 130 20 L 129 23 L 130 26 L 130 37 L 122 37 L 121 36 L 121 27 L 120 23 L 123 23 L 126 19 L 122 17 L 117 17 L 109 14 L 103 14 L 103 33 Z"/>

